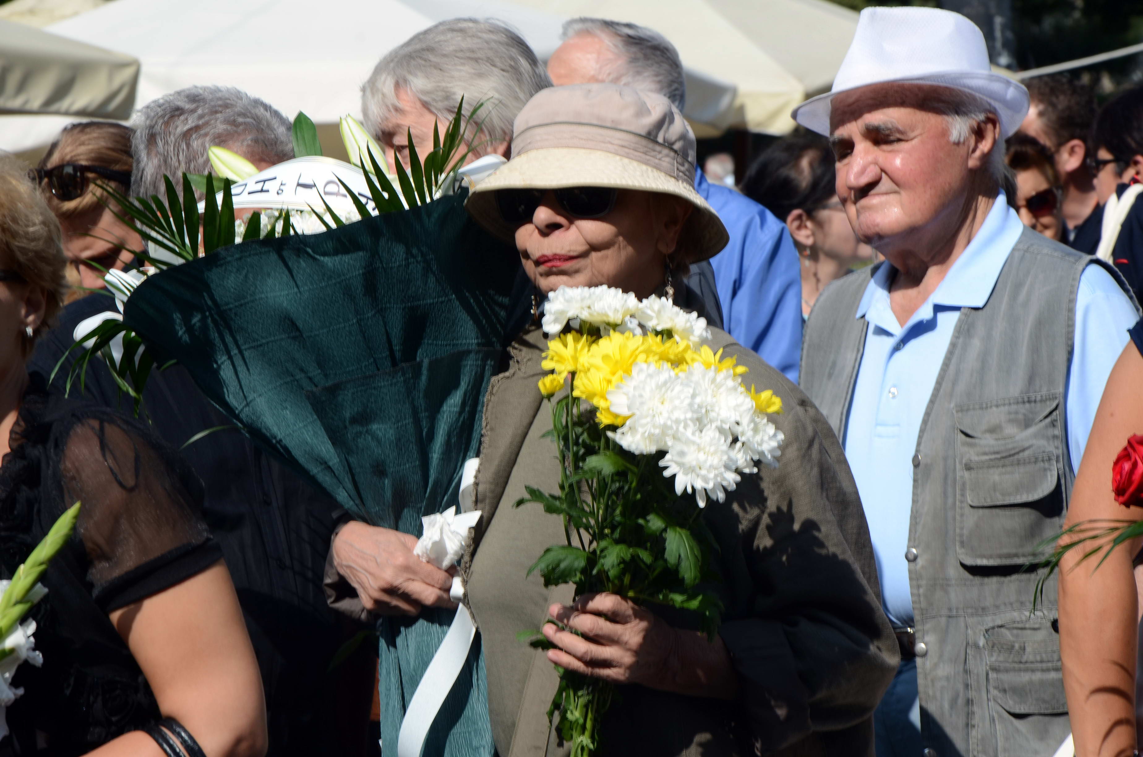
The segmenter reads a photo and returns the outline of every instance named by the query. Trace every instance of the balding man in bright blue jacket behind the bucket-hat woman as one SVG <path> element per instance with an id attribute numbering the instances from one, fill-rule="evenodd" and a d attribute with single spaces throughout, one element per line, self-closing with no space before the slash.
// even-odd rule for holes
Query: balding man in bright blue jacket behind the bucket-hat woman
<path id="1" fill-rule="evenodd" d="M 686 80 L 678 50 L 658 32 L 602 18 L 574 18 L 547 62 L 557 86 L 610 81 L 655 91 L 682 110 Z M 719 214 L 730 241 L 711 258 L 722 328 L 768 364 L 798 381 L 801 277 L 785 224 L 758 202 L 695 170 L 695 189 Z M 711 271 L 697 268 L 690 286 L 708 300 Z"/>

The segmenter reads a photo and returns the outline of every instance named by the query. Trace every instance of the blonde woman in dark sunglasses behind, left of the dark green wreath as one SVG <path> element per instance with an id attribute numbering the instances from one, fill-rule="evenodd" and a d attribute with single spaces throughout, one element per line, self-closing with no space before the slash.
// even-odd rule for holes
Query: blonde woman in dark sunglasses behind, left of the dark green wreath
<path id="1" fill-rule="evenodd" d="M 63 228 L 69 284 L 82 287 L 69 293 L 69 302 L 83 289 L 102 289 L 104 274 L 127 266 L 134 258 L 128 250 L 143 248 L 138 232 L 117 217 L 118 207 L 96 186 L 127 194 L 133 165 L 129 127 L 88 121 L 64 127 L 29 172 Z"/>

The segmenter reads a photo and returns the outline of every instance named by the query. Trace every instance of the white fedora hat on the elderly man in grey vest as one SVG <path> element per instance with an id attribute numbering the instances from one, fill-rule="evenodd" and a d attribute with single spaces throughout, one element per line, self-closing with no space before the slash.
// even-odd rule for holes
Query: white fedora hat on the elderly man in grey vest
<path id="1" fill-rule="evenodd" d="M 1028 114 L 1028 89 L 992 72 L 976 24 L 951 10 L 903 7 L 861 11 L 833 88 L 796 107 L 793 119 L 829 136 L 830 106 L 837 95 L 887 82 L 936 85 L 977 95 L 996 107 L 1005 138 Z"/>

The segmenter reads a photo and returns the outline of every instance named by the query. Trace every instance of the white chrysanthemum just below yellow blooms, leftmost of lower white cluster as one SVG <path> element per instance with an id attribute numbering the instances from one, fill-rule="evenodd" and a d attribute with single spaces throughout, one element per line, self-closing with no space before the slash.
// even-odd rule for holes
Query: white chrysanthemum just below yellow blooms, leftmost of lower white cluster
<path id="1" fill-rule="evenodd" d="M 669 449 L 676 437 L 701 428 L 694 390 L 670 366 L 637 362 L 607 399 L 613 413 L 631 416 L 612 438 L 637 455 Z"/>

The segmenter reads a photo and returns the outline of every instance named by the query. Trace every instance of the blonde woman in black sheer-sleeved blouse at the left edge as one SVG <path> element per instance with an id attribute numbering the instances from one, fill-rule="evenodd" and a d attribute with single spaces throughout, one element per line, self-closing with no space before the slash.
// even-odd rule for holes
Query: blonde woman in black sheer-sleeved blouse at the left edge
<path id="1" fill-rule="evenodd" d="M 63 300 L 62 232 L 0 154 L 0 577 L 80 502 L 30 617 L 0 754 L 257 756 L 262 683 L 201 484 L 146 427 L 50 396 L 26 360 Z"/>

